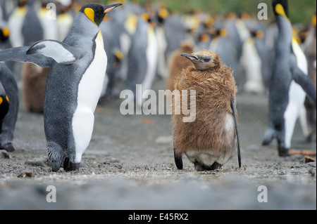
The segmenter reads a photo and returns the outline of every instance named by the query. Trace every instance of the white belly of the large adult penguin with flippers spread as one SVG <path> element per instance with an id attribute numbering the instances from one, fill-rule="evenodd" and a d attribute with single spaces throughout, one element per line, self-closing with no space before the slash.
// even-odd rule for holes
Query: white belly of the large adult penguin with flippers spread
<path id="1" fill-rule="evenodd" d="M 92 138 L 94 110 L 101 95 L 107 66 L 104 41 L 101 34 L 96 38 L 94 60 L 82 75 L 77 93 L 77 109 L 73 115 L 73 136 L 75 140 L 75 162 L 79 163 Z"/>

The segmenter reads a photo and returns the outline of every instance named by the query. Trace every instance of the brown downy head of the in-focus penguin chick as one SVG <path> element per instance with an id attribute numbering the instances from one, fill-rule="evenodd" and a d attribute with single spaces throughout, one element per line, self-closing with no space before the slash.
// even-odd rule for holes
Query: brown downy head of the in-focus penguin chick
<path id="1" fill-rule="evenodd" d="M 213 51 L 202 50 L 192 54 L 182 53 L 181 56 L 191 60 L 198 71 L 218 70 L 220 68 L 219 56 Z"/>

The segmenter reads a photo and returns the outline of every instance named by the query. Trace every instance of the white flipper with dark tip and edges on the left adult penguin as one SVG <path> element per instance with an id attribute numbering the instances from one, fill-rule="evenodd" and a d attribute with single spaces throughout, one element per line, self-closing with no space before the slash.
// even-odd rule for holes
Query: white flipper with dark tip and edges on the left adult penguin
<path id="1" fill-rule="evenodd" d="M 33 44 L 27 51 L 27 55 L 33 54 L 53 58 L 56 62 L 65 65 L 73 64 L 73 62 L 82 56 L 82 53 L 80 53 L 77 48 L 55 40 L 43 40 Z"/>

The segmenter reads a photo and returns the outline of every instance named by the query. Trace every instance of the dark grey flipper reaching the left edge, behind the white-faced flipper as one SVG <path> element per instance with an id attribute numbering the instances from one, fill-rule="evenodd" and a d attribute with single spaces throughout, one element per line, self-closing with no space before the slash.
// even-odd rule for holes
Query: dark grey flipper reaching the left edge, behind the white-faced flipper
<path id="1" fill-rule="evenodd" d="M 40 67 L 51 67 L 51 63 L 54 61 L 52 58 L 43 55 L 27 55 L 29 48 L 29 46 L 20 46 L 1 50 L 0 61 L 30 62 Z"/>

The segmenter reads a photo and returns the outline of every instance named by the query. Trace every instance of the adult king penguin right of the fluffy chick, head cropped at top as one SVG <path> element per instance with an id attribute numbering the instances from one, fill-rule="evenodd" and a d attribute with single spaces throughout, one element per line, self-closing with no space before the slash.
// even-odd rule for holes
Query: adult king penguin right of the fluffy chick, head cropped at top
<path id="1" fill-rule="evenodd" d="M 287 7 L 287 0 L 273 0 L 278 40 L 275 46 L 275 65 L 268 86 L 269 123 L 262 143 L 268 145 L 276 138 L 278 154 L 281 157 L 289 154 L 294 124 L 304 104 L 304 92 L 316 107 L 316 88 L 305 71 L 303 72 L 307 65 L 301 65 L 305 58 L 300 56 L 303 53 L 292 39 L 292 25 L 287 17 Z"/>

